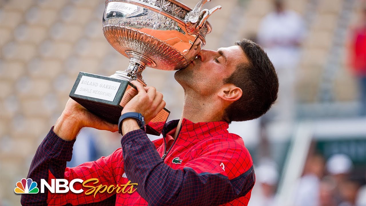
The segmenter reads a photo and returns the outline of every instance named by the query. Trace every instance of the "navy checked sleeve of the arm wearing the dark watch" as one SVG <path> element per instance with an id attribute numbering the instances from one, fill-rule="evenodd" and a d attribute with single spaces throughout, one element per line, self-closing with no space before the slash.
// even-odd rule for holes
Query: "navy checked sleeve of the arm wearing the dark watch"
<path id="1" fill-rule="evenodd" d="M 149 205 L 220 205 L 246 195 L 254 185 L 253 167 L 229 180 L 220 173 L 175 170 L 161 159 L 146 133 L 128 132 L 121 140 L 128 179 Z"/>

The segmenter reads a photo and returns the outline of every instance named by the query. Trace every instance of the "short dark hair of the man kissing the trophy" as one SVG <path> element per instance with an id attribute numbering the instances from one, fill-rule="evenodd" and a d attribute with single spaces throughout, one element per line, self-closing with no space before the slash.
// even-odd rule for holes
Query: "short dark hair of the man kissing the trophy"
<path id="1" fill-rule="evenodd" d="M 224 113 L 224 119 L 246 121 L 265 114 L 277 99 L 279 82 L 275 67 L 266 52 L 254 41 L 242 39 L 236 41 L 249 62 L 239 63 L 225 84 L 234 84 L 243 91 L 240 99 L 230 104 Z"/>

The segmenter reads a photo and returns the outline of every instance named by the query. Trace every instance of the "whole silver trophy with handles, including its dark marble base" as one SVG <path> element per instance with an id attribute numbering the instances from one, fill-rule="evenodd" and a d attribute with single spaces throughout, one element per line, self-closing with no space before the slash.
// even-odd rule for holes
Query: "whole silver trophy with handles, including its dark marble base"
<path id="1" fill-rule="evenodd" d="M 91 113 L 117 123 L 126 103 L 137 93 L 130 83 L 142 79 L 145 67 L 178 70 L 191 63 L 211 32 L 211 10 L 201 0 L 192 10 L 176 0 L 107 0 L 103 33 L 109 44 L 130 59 L 124 71 L 110 77 L 80 72 L 70 97 Z M 164 108 L 146 125 L 147 133 L 160 135 L 169 110 Z"/>

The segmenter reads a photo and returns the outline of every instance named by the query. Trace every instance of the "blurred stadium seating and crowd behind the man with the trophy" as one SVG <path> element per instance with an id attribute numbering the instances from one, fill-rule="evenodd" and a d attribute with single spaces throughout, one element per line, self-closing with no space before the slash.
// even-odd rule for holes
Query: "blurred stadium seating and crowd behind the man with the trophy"
<path id="1" fill-rule="evenodd" d="M 181 2 L 193 8 L 198 0 Z M 229 128 L 243 137 L 257 167 L 249 205 L 356 205 L 357 194 L 365 195 L 366 106 L 359 100 L 350 54 L 352 31 L 366 27 L 365 1 L 283 3 L 298 14 L 303 29 L 296 46 L 299 61 L 280 76 L 280 84 L 288 80 L 279 98 L 285 103 L 261 119 Z M 274 10 L 272 0 L 212 0 L 205 7 L 215 5 L 223 8 L 209 19 L 213 30 L 204 49 L 231 46 L 240 38 L 261 43 L 258 33 L 266 29 L 261 27 Z M 20 205 L 15 183 L 27 176 L 79 71 L 110 76 L 127 68 L 128 59 L 102 33 L 104 8 L 104 0 L 0 0 L 1 206 Z M 173 75 L 150 68 L 143 73 L 147 84 L 164 94 L 169 120 L 179 119 L 183 106 L 183 89 Z M 110 154 L 119 139 L 119 134 L 83 130 L 70 166 Z M 315 180 L 303 184 L 306 177 Z M 303 193 L 310 202 L 301 200 Z"/>

